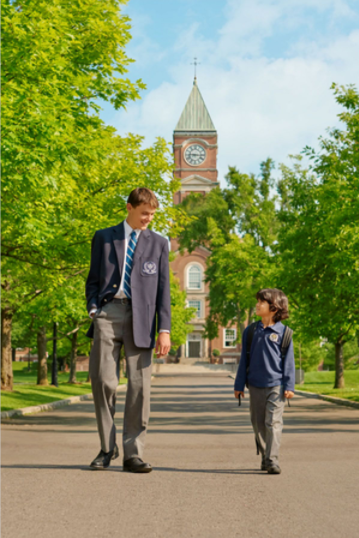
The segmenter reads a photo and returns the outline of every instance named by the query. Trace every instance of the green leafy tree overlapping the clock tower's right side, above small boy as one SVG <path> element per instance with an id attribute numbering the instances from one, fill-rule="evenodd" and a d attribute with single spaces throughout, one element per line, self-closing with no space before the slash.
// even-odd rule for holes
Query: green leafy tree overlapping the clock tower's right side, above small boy
<path id="1" fill-rule="evenodd" d="M 189 195 L 181 205 L 192 219 L 179 238 L 182 251 L 200 245 L 211 251 L 206 269 L 210 339 L 218 335 L 219 325 L 233 322 L 241 335 L 253 317 L 256 291 L 273 282 L 278 230 L 273 167 L 271 159 L 262 162 L 258 177 L 230 167 L 225 189 L 215 188 L 205 197 Z"/>

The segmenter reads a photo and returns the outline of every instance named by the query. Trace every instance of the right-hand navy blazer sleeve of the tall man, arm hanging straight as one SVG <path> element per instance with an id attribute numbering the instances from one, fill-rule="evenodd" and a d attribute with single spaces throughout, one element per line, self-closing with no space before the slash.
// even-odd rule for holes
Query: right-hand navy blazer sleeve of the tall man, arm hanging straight
<path id="1" fill-rule="evenodd" d="M 166 240 L 159 263 L 159 280 L 156 300 L 157 331 L 171 330 L 171 294 L 170 270 L 168 259 L 168 241 Z"/>

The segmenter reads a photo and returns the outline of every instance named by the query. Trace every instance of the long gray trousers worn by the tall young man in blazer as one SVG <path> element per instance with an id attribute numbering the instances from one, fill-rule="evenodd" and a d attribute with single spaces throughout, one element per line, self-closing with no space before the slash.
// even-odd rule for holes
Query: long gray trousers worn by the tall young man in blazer
<path id="1" fill-rule="evenodd" d="M 128 386 L 123 421 L 124 460 L 142 458 L 150 415 L 152 349 L 136 347 L 132 331 L 132 307 L 116 299 L 94 318 L 94 342 L 90 377 L 97 427 L 104 452 L 116 443 L 114 423 L 119 358 L 124 346 Z"/>

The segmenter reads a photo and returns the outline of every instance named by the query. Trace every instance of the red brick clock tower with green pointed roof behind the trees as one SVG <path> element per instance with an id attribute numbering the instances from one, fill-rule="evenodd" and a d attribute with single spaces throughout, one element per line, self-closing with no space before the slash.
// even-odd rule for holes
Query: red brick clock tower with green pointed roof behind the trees
<path id="1" fill-rule="evenodd" d="M 217 131 L 211 120 L 195 77 L 192 91 L 173 132 L 175 175 L 181 180 L 181 188 L 174 195 L 174 202 L 180 203 L 189 193 L 203 195 L 219 185 L 217 170 Z M 178 253 L 178 241 L 171 240 L 171 250 L 177 253 L 171 268 L 186 291 L 188 306 L 197 309 L 192 320 L 194 330 L 187 336 L 187 342 L 178 351 L 180 359 L 208 359 L 213 349 L 219 349 L 221 356 L 236 357 L 237 346 L 233 344 L 236 329 L 219 328 L 219 336 L 211 342 L 204 338 L 205 318 L 208 315 L 208 284 L 204 282 L 206 260 L 210 251 L 196 248 L 191 254 Z M 222 362 L 222 360 L 221 360 Z"/>

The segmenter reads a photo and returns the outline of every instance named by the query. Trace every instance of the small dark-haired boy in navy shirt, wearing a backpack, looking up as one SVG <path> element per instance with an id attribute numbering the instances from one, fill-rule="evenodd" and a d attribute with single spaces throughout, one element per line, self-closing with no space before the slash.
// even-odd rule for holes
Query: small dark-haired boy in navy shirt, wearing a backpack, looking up
<path id="1" fill-rule="evenodd" d="M 295 366 L 293 342 L 285 357 L 281 343 L 286 327 L 281 323 L 288 315 L 288 299 L 281 290 L 263 289 L 257 295 L 256 315 L 261 317 L 250 346 L 247 364 L 247 341 L 250 326 L 243 333 L 242 355 L 234 383 L 236 398 L 244 398 L 247 385 L 250 414 L 258 452 L 262 455 L 261 470 L 280 474 L 279 446 L 283 428 L 285 399 L 294 396 Z"/>

